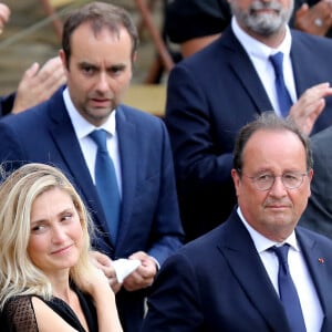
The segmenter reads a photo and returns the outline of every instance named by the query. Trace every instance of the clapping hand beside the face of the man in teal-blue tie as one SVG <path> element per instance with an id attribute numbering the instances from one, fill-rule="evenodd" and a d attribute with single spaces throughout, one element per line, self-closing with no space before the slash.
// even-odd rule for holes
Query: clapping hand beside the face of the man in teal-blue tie
<path id="1" fill-rule="evenodd" d="M 19 113 L 46 101 L 66 82 L 63 65 L 59 56 L 50 59 L 40 70 L 33 63 L 19 83 L 12 113 Z"/>

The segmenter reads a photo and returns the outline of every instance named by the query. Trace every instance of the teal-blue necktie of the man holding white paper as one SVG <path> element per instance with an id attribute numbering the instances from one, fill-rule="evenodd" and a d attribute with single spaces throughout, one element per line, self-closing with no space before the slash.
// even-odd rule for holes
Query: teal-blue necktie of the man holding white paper
<path id="1" fill-rule="evenodd" d="M 97 145 L 94 169 L 95 185 L 106 216 L 110 237 L 113 245 L 115 245 L 120 219 L 121 198 L 113 160 L 106 146 L 107 133 L 104 129 L 98 129 L 93 131 L 90 136 Z"/>

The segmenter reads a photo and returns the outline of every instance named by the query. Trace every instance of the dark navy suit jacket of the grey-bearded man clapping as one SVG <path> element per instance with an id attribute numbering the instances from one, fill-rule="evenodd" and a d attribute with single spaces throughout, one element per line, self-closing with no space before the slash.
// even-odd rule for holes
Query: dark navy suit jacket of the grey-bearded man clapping
<path id="1" fill-rule="evenodd" d="M 292 31 L 297 94 L 332 83 L 332 41 Z M 228 28 L 203 51 L 179 62 L 167 87 L 166 124 L 174 151 L 180 212 L 188 239 L 226 220 L 236 196 L 231 181 L 238 131 L 272 105 L 241 44 Z M 332 97 L 313 133 L 332 124 Z"/>

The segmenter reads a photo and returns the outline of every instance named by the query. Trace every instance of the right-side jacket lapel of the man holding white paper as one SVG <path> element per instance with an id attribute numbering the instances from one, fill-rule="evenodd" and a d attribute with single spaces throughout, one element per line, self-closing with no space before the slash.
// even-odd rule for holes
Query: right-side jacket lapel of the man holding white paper
<path id="1" fill-rule="evenodd" d="M 136 126 L 125 113 L 125 106 L 118 106 L 116 111 L 116 132 L 122 168 L 122 217 L 118 229 L 117 242 L 123 243 L 128 231 L 128 221 L 133 210 L 137 184 L 137 163 L 139 146 L 136 139 Z"/>

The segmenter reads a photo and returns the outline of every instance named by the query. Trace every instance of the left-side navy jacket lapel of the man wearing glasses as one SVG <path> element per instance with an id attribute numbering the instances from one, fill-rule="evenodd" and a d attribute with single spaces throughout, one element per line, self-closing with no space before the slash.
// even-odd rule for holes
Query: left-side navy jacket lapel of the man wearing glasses
<path id="1" fill-rule="evenodd" d="M 234 212 L 227 221 L 219 249 L 242 289 L 272 331 L 289 331 L 279 297 L 250 235 Z M 283 318 L 283 319 L 280 319 Z"/>

